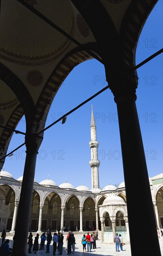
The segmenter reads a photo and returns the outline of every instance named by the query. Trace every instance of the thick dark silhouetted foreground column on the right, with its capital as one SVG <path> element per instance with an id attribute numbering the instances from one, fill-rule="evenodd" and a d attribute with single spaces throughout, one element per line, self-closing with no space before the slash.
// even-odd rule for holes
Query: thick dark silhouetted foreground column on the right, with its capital
<path id="1" fill-rule="evenodd" d="M 138 237 L 144 229 L 152 243 L 143 247 L 141 254 L 161 256 L 157 237 L 156 221 L 150 192 L 150 183 L 145 161 L 144 147 L 136 108 L 135 74 L 131 69 L 119 70 L 111 78 L 110 88 L 117 104 L 125 192 L 130 229 L 132 256 L 138 255 Z M 141 99 L 145 101 L 145 99 Z M 136 203 L 138 202 L 138 204 Z M 138 214 L 138 209 L 140 212 Z M 142 218 L 141 213 L 145 216 Z"/>

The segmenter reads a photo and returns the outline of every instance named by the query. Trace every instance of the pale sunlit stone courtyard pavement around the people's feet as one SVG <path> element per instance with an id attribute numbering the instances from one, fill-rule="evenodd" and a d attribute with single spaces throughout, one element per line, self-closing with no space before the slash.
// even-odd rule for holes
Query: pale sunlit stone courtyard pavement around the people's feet
<path id="1" fill-rule="evenodd" d="M 130 248 L 130 244 L 125 244 L 123 246 L 124 251 L 119 251 L 116 252 L 115 251 L 115 244 L 107 244 L 107 243 L 102 243 L 101 242 L 101 233 L 99 232 L 99 240 L 96 241 L 96 246 L 97 249 L 92 249 L 92 252 L 89 253 L 83 253 L 82 252 L 82 244 L 81 244 L 81 238 L 82 235 L 84 233 L 77 233 L 74 232 L 74 236 L 75 236 L 75 240 L 76 240 L 76 245 L 75 245 L 75 256 L 83 256 L 86 255 L 88 256 L 89 254 L 91 254 L 92 256 L 100 256 L 100 255 L 107 255 L 107 256 L 117 256 L 117 255 L 121 255 L 121 256 L 131 256 L 131 248 Z M 85 233 L 86 234 L 86 233 Z M 52 233 L 53 235 L 53 233 Z M 86 234 L 87 235 L 87 234 Z M 64 239 L 63 239 L 63 256 L 67 256 L 67 250 L 66 250 L 66 236 L 67 236 L 67 232 L 65 232 L 63 234 Z M 35 235 L 33 234 L 33 241 L 34 241 L 34 237 Z M 10 247 L 13 247 L 13 236 L 7 236 L 7 239 L 10 239 Z M 142 241 L 142 239 L 140 239 Z M 140 245 L 143 246 L 143 243 L 140 241 L 141 244 L 138 244 L 138 255 L 141 255 L 141 249 L 140 249 Z M 160 243 L 160 249 L 161 249 L 161 253 L 163 256 L 163 236 L 161 236 L 161 238 L 159 239 L 159 243 Z M 1 239 L 0 239 L 0 245 L 1 245 Z M 150 246 L 149 244 L 147 246 Z M 40 248 L 40 236 L 39 236 L 39 248 Z M 120 249 L 120 248 L 119 248 Z M 38 256 L 52 256 L 53 255 L 53 246 L 52 243 L 50 244 L 50 253 L 45 253 L 46 251 L 46 242 L 45 242 L 45 249 L 44 250 L 38 250 L 37 254 Z M 58 251 L 56 250 L 56 255 L 58 255 Z M 35 254 L 28 254 L 28 245 L 27 245 L 27 255 L 35 255 Z M 145 255 L 144 255 L 145 256 Z"/>

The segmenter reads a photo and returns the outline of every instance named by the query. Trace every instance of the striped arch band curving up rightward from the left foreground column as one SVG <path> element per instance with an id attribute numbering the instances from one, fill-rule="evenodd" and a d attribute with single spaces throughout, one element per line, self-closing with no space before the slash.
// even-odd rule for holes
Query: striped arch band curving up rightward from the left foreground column
<path id="1" fill-rule="evenodd" d="M 88 44 L 88 46 L 94 48 L 94 44 Z M 69 54 L 66 54 L 66 56 L 64 56 L 64 58 L 58 63 L 39 96 L 34 117 L 34 121 L 39 123 L 39 126 L 35 127 L 35 132 L 39 132 L 40 130 L 44 129 L 45 121 L 49 113 L 52 101 L 54 100 L 57 91 L 61 87 L 68 74 L 75 66 L 92 58 L 93 57 L 86 51 L 77 47 Z"/>

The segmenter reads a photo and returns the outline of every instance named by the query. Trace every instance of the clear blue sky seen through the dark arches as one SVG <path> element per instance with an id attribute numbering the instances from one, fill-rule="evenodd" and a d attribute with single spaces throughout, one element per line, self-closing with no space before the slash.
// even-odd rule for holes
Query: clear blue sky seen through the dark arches
<path id="1" fill-rule="evenodd" d="M 136 64 L 163 47 L 162 10 L 163 0 L 159 0 L 140 35 Z M 153 177 L 163 172 L 163 54 L 137 71 L 139 84 L 136 105 L 148 174 Z M 105 70 L 100 62 L 90 60 L 75 67 L 56 94 L 45 127 L 105 86 Z M 59 122 L 44 132 L 35 171 L 38 183 L 49 175 L 58 186 L 67 179 L 75 188 L 83 183 L 91 189 L 91 105 L 99 141 L 100 188 L 124 181 L 117 108 L 112 92 L 107 89 L 69 115 L 65 124 Z M 25 132 L 25 117 L 16 129 Z M 14 134 L 7 153 L 24 142 L 23 135 Z M 24 165 L 25 147 L 22 147 L 13 156 L 6 157 L 4 167 L 18 179 L 23 175 Z"/>

